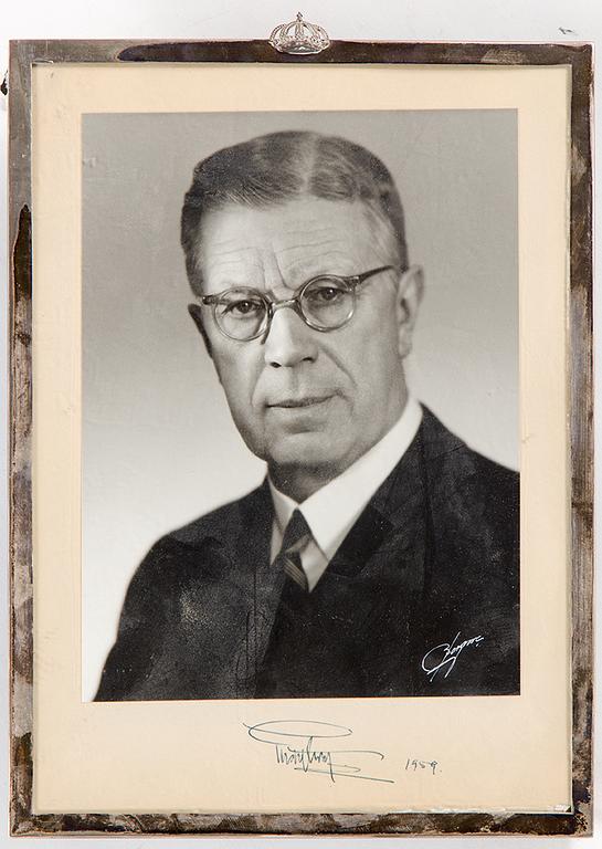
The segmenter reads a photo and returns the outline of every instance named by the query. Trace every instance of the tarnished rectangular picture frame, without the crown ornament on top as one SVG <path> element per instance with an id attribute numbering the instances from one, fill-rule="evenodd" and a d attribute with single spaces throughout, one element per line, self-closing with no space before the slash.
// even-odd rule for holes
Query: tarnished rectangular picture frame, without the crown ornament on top
<path id="1" fill-rule="evenodd" d="M 403 801 L 390 810 L 278 813 L 266 807 L 230 813 L 194 809 L 151 811 L 133 808 L 124 800 L 117 813 L 98 808 L 82 811 L 75 805 L 39 810 L 34 804 L 40 703 L 38 681 L 46 681 L 49 669 L 36 661 L 34 630 L 38 610 L 44 604 L 47 580 L 41 579 L 35 557 L 43 541 L 36 538 L 33 489 L 40 419 L 33 416 L 34 392 L 45 391 L 42 371 L 34 366 L 36 327 L 32 318 L 36 289 L 36 251 L 40 208 L 32 198 L 34 180 L 44 180 L 44 168 L 32 147 L 36 113 L 32 112 L 35 69 L 77 71 L 78 67 L 159 69 L 166 78 L 178 67 L 363 67 L 463 69 L 477 74 L 483 69 L 564 69 L 570 93 L 570 156 L 568 192 L 569 262 L 566 290 L 564 416 L 569 422 L 567 462 L 567 568 L 570 608 L 570 715 L 572 738 L 569 752 L 570 804 L 553 811 L 532 810 L 528 805 L 452 806 L 450 813 L 436 804 L 405 809 Z M 176 69 L 176 70 L 175 70 Z M 10 578 L 11 578 L 11 832 L 19 835 L 589 835 L 592 829 L 592 601 L 593 601 L 593 424 L 592 424 L 592 172 L 591 98 L 592 49 L 589 44 L 462 44 L 405 42 L 331 42 L 316 55 L 277 52 L 267 41 L 136 42 L 136 41 L 19 41 L 11 44 L 10 102 L 10 207 L 11 258 L 10 303 Z M 33 107 L 35 107 L 35 102 Z M 511 107 L 511 104 L 508 106 Z M 400 107 L 401 108 L 401 107 Z M 32 176 L 33 175 L 33 176 Z M 522 179 L 519 172 L 519 180 Z M 519 192 L 520 196 L 520 192 Z M 519 203 L 524 198 L 519 198 Z M 562 212 L 562 210 L 560 210 Z M 560 213 L 559 212 L 559 213 Z M 42 226 L 40 222 L 40 232 Z M 521 250 L 522 250 L 521 245 Z M 524 282 L 520 282 L 524 285 Z M 52 317 L 51 317 L 52 323 Z M 47 329 L 47 325 L 46 325 Z M 54 332 L 60 328 L 54 327 Z M 51 327 L 52 331 L 52 327 Z M 51 333 L 52 335 L 52 333 Z M 40 365 L 35 360 L 35 365 Z M 561 376 L 558 377 L 562 384 Z M 524 441 L 531 434 L 524 434 Z M 537 438 L 537 434 L 535 434 Z M 75 444 L 75 443 L 74 443 Z M 77 446 L 73 449 L 77 450 Z M 560 462 L 560 460 L 559 460 Z M 33 481 L 33 484 L 32 484 Z M 72 491 L 70 490 L 72 497 Z M 42 496 L 39 496 L 42 497 Z M 47 497 L 47 496 L 44 496 Z M 40 502 L 38 502 L 40 504 Z M 45 574 L 45 573 L 44 573 Z M 47 578 L 47 576 L 46 576 Z M 562 599 L 561 599 L 562 600 Z M 558 626 L 560 627 L 560 626 Z M 39 632 L 36 632 L 40 638 Z M 543 638 L 542 638 L 543 639 Z M 35 670 L 35 673 L 34 673 Z M 50 669 L 52 674 L 53 670 Z M 557 741 L 558 743 L 558 741 Z M 45 745 L 45 744 L 44 744 Z M 46 750 L 44 750 L 46 752 Z M 49 753 L 54 751 L 52 746 Z M 420 755 L 418 755 L 420 756 Z M 52 805 L 50 805 L 52 807 Z M 171 808 L 170 808 L 171 810 Z"/>

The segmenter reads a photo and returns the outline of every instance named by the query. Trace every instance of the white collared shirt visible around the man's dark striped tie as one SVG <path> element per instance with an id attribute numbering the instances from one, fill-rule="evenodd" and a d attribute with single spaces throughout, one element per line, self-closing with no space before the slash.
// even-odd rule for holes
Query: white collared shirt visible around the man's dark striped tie
<path id="1" fill-rule="evenodd" d="M 376 446 L 300 504 L 270 481 L 274 502 L 271 562 L 276 558 L 288 520 L 298 507 L 313 535 L 300 552 L 303 570 L 313 590 L 362 510 L 409 449 L 421 421 L 422 408 L 410 396 L 399 420 Z"/>

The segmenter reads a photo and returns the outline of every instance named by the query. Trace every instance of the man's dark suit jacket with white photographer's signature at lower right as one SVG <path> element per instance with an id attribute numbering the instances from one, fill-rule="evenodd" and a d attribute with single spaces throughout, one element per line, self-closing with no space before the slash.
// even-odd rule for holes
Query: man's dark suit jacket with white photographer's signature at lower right
<path id="1" fill-rule="evenodd" d="M 313 593 L 272 520 L 264 483 L 154 545 L 98 701 L 519 692 L 518 475 L 429 410 Z"/>

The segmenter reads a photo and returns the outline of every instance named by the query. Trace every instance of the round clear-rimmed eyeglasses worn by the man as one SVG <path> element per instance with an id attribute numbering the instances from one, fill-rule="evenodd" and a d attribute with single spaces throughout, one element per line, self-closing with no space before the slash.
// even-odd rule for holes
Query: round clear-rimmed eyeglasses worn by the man
<path id="1" fill-rule="evenodd" d="M 383 271 L 395 271 L 395 266 L 381 265 L 349 277 L 320 274 L 283 301 L 273 301 L 258 289 L 236 286 L 202 295 L 200 302 L 213 308 L 213 318 L 223 335 L 237 342 L 267 336 L 274 313 L 285 306 L 294 310 L 308 327 L 328 333 L 342 327 L 353 315 L 358 286 Z"/>

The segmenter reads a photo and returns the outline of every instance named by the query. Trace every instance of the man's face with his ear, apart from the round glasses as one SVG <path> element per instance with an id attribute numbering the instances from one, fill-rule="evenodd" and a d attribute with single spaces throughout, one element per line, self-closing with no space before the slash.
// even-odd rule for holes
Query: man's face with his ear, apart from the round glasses
<path id="1" fill-rule="evenodd" d="M 252 286 L 289 298 L 319 274 L 347 276 L 390 264 L 389 238 L 359 203 L 304 198 L 266 209 L 232 205 L 202 221 L 203 293 Z M 275 312 L 267 336 L 251 342 L 223 336 L 203 307 L 234 422 L 281 480 L 303 470 L 330 480 L 397 421 L 415 313 L 409 287 L 415 286 L 408 275 L 382 272 L 358 289 L 345 326 L 311 329 L 285 307 Z"/>

